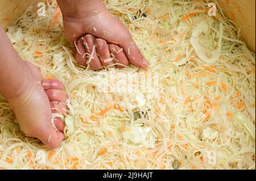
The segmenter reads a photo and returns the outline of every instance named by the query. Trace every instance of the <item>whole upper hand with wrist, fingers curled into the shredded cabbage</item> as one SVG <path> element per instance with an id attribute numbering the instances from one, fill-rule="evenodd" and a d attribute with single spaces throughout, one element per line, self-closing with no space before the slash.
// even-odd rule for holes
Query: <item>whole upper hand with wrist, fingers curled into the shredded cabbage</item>
<path id="1" fill-rule="evenodd" d="M 93 53 L 89 63 L 93 70 L 112 64 L 122 64 L 124 66 L 117 67 L 123 68 L 129 63 L 139 68 L 147 68 L 149 64 L 134 43 L 130 32 L 106 9 L 101 0 L 57 2 L 63 13 L 65 36 L 80 65 L 86 66 L 90 54 Z"/>

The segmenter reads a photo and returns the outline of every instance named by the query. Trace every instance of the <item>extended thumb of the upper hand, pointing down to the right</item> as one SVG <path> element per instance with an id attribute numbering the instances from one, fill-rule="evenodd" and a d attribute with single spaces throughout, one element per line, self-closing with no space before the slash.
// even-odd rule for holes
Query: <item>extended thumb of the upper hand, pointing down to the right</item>
<path id="1" fill-rule="evenodd" d="M 126 40 L 121 40 L 120 45 L 131 64 L 139 68 L 147 68 L 149 66 L 148 61 L 142 55 L 141 50 L 139 50 L 131 36 Z"/>

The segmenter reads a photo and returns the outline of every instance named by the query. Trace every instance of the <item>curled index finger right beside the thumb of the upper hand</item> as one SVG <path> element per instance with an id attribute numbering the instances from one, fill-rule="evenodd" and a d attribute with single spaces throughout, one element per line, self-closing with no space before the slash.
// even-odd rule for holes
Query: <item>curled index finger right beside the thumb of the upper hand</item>
<path id="1" fill-rule="evenodd" d="M 125 68 L 129 65 L 129 60 L 125 55 L 125 52 L 123 52 L 122 48 L 118 45 L 109 44 L 109 50 L 114 56 L 114 62 L 116 64 L 122 64 L 117 65 L 118 68 Z"/>

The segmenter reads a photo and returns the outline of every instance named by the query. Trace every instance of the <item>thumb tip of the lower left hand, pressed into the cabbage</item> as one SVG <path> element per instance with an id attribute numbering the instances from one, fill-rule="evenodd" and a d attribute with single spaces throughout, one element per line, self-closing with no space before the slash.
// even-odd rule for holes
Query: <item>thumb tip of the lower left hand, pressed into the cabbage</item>
<path id="1" fill-rule="evenodd" d="M 52 127 L 39 132 L 37 137 L 51 149 L 58 148 L 65 138 L 64 133 L 56 132 Z"/>

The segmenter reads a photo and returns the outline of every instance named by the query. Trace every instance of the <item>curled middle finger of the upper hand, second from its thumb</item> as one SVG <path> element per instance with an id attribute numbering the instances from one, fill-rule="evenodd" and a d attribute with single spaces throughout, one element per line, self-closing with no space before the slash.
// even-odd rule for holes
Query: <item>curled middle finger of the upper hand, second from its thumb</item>
<path id="1" fill-rule="evenodd" d="M 111 58 L 109 53 L 109 45 L 105 40 L 96 39 L 95 40 L 96 50 L 98 57 L 101 60 L 103 66 L 108 66 L 114 64 L 113 58 Z"/>

